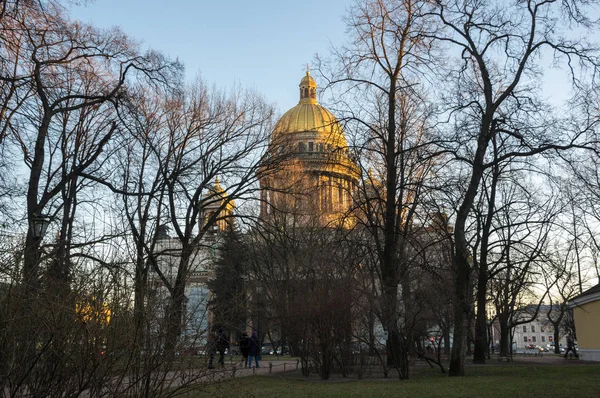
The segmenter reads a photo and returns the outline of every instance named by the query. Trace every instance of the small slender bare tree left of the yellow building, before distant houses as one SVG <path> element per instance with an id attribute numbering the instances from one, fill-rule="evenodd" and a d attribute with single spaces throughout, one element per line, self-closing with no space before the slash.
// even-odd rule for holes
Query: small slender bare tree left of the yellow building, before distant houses
<path id="1" fill-rule="evenodd" d="M 491 303 L 497 314 L 501 356 L 511 353 L 512 329 L 535 319 L 545 300 L 539 281 L 550 258 L 550 240 L 560 211 L 551 190 L 543 192 L 543 184 L 534 188 L 533 182 L 524 183 L 528 179 L 522 172 L 513 173 L 520 178 L 503 176 L 497 186 L 498 201 L 487 250 L 488 297 L 484 311 L 488 312 Z M 544 294 L 536 294 L 536 290 Z M 525 304 L 530 304 L 522 301 L 524 297 L 537 302 L 528 307 L 534 310 L 527 317 L 520 316 Z M 485 336 L 487 346 L 487 331 Z"/>

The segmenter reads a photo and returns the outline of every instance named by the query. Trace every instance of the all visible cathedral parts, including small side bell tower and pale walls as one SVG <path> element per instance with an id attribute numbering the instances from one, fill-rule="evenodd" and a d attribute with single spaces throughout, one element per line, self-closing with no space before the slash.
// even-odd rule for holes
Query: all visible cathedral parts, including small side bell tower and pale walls
<path id="1" fill-rule="evenodd" d="M 317 101 L 317 85 L 307 71 L 299 85 L 300 100 L 281 116 L 271 133 L 268 166 L 259 170 L 260 218 L 272 226 L 292 228 L 347 228 L 355 224 L 351 216 L 360 169 L 348 151 L 340 122 Z M 190 264 L 186 283 L 187 324 L 184 338 L 206 342 L 213 314 L 207 282 L 215 277 L 215 262 L 222 250 L 223 232 L 233 228 L 234 202 L 217 178 L 207 189 L 199 219 L 203 238 Z M 181 245 L 161 227 L 157 243 L 158 268 L 167 280 L 175 278 Z M 157 291 L 166 294 L 159 278 Z M 248 321 L 261 334 L 257 302 L 262 286 L 247 287 Z M 263 329 L 266 322 L 263 320 Z M 232 329 L 233 331 L 234 329 Z M 238 331 L 239 332 L 239 331 Z M 262 336 L 262 334 L 261 334 Z M 237 341 L 230 336 L 232 342 Z"/>

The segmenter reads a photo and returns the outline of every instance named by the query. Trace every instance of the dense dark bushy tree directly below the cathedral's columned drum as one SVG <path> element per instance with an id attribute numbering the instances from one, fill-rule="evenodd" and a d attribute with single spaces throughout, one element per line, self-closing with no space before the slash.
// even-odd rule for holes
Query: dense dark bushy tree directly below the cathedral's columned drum
<path id="1" fill-rule="evenodd" d="M 288 203 L 293 197 L 288 193 Z M 302 212 L 283 207 L 248 235 L 250 306 L 260 291 L 263 316 L 253 317 L 252 326 L 289 344 L 301 357 L 304 375 L 315 370 L 326 380 L 337 368 L 347 376 L 353 314 L 362 300 L 355 288 L 360 251 L 346 239 L 352 231 L 344 223 L 338 228 L 322 223 L 318 203 L 306 204 Z"/>

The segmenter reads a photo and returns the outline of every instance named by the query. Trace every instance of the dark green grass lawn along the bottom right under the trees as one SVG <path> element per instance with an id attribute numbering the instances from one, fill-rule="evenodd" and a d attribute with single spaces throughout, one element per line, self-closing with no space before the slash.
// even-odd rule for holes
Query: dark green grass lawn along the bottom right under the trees
<path id="1" fill-rule="evenodd" d="M 419 369 L 411 380 L 302 380 L 255 376 L 189 397 L 600 397 L 600 365 L 468 367 L 466 377 Z"/>

